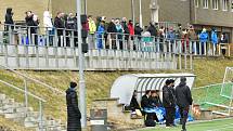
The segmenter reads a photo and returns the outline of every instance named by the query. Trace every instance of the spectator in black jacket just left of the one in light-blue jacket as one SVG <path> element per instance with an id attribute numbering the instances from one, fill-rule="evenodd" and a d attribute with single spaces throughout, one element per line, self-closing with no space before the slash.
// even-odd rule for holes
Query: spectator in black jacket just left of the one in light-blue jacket
<path id="1" fill-rule="evenodd" d="M 112 43 L 112 49 L 116 49 L 116 32 L 117 32 L 117 28 L 115 25 L 115 19 L 112 18 L 108 27 L 107 27 L 107 32 L 109 32 L 109 41 L 107 42 L 108 44 L 106 44 L 106 49 L 109 49 L 109 45 Z"/>

